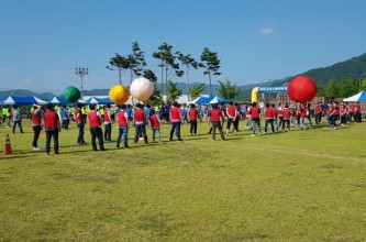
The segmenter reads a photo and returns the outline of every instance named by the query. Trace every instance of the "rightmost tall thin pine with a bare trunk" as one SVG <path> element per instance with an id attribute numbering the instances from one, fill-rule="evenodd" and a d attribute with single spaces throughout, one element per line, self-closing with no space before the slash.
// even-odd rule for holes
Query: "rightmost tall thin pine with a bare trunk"
<path id="1" fill-rule="evenodd" d="M 218 53 L 211 52 L 210 48 L 204 47 L 203 52 L 201 54 L 201 62 L 199 64 L 199 67 L 204 68 L 206 70 L 203 72 L 204 75 L 209 76 L 209 85 L 210 85 L 210 97 L 212 97 L 212 80 L 211 76 L 220 76 L 221 73 L 219 73 L 220 69 L 220 59 L 218 57 Z"/>

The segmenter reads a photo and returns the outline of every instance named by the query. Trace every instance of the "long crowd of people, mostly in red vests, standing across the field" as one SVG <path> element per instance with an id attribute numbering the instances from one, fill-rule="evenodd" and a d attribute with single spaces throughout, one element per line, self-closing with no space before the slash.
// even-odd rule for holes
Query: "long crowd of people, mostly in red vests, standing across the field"
<path id="1" fill-rule="evenodd" d="M 15 127 L 19 127 L 21 133 L 22 116 L 18 106 L 2 107 L 0 122 L 7 127 L 12 125 L 12 132 L 15 133 Z M 314 123 L 312 122 L 314 119 Z M 120 106 L 97 106 L 81 105 L 76 106 L 54 106 L 48 103 L 46 107 L 33 105 L 31 108 L 31 120 L 34 132 L 32 146 L 34 151 L 40 151 L 37 141 L 41 131 L 44 129 L 46 133 L 45 152 L 49 154 L 51 141 L 54 140 L 54 152 L 58 152 L 58 133 L 63 130 L 68 130 L 70 123 L 76 123 L 78 135 L 76 139 L 77 145 L 86 145 L 84 139 L 85 127 L 89 125 L 91 134 L 91 147 L 93 151 L 106 151 L 104 142 L 112 141 L 112 127 L 119 129 L 115 140 L 115 146 L 119 148 L 123 136 L 123 147 L 129 148 L 129 128 L 134 127 L 135 136 L 134 144 L 142 140 L 145 144 L 148 143 L 146 128 L 152 130 L 152 141 L 160 142 L 162 123 L 171 125 L 169 141 L 175 138 L 182 141 L 180 127 L 184 123 L 190 125 L 189 135 L 197 135 L 198 121 L 209 122 L 211 124 L 209 134 L 212 140 L 215 140 L 217 130 L 220 133 L 221 140 L 230 134 L 233 127 L 233 134 L 237 135 L 240 121 L 245 122 L 245 128 L 251 130 L 252 136 L 264 135 L 267 133 L 276 134 L 278 132 L 288 132 L 291 128 L 300 130 L 312 129 L 314 124 L 320 124 L 325 118 L 330 128 L 336 129 L 337 123 L 345 125 L 348 122 L 362 122 L 361 103 L 332 102 L 317 103 L 312 108 L 310 103 L 279 103 L 276 107 L 274 103 L 266 103 L 265 108 L 260 109 L 256 102 L 251 105 L 239 105 L 230 101 L 228 105 L 179 105 L 174 101 L 171 105 L 149 106 L 136 103 Z M 264 119 L 264 132 L 262 132 L 260 119 Z M 102 130 L 102 127 L 104 128 Z M 268 129 L 269 128 L 269 129 Z M 257 133 L 256 133 L 257 131 Z M 97 147 L 97 140 L 98 146 Z"/>

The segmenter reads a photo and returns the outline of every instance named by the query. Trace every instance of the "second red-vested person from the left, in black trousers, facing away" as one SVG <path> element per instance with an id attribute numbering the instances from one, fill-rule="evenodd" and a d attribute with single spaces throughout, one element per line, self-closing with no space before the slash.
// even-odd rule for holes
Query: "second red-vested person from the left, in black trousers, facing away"
<path id="1" fill-rule="evenodd" d="M 49 155 L 51 139 L 54 139 L 55 154 L 58 152 L 58 132 L 60 131 L 60 123 L 58 114 L 54 109 L 53 103 L 46 106 L 47 110 L 44 112 L 44 128 L 46 132 L 46 154 Z"/>

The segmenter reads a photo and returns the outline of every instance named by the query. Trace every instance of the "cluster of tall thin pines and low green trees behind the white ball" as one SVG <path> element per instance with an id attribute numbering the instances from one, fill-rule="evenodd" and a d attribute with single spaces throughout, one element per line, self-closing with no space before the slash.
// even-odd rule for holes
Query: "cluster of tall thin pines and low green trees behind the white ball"
<path id="1" fill-rule="evenodd" d="M 178 89 L 178 82 L 174 82 L 174 77 L 184 77 L 187 81 L 188 100 L 193 100 L 199 97 L 206 89 L 206 84 L 196 84 L 190 86 L 190 72 L 192 69 L 201 68 L 203 75 L 208 76 L 209 95 L 212 97 L 212 81 L 214 76 L 220 76 L 221 59 L 217 52 L 212 52 L 210 48 L 204 47 L 199 59 L 196 59 L 191 54 L 184 54 L 180 51 L 174 51 L 174 46 L 167 43 L 163 43 L 157 47 L 157 51 L 152 56 L 158 61 L 158 67 L 160 68 L 162 90 L 157 89 L 157 76 L 151 70 L 146 69 L 144 52 L 141 50 L 138 42 L 132 43 L 132 52 L 125 56 L 115 53 L 115 56 L 111 57 L 109 65 L 110 70 L 118 70 L 119 82 L 123 84 L 122 73 L 130 73 L 130 84 L 136 77 L 145 77 L 154 82 L 155 91 L 149 100 L 153 103 L 163 102 L 163 92 L 167 96 L 166 101 L 174 101 L 181 96 L 182 90 Z M 164 85 L 165 84 L 165 85 Z M 228 99 L 232 99 L 240 95 L 240 89 L 236 84 L 230 80 L 219 80 L 220 88 L 218 92 Z M 165 90 L 163 89 L 165 87 Z"/>

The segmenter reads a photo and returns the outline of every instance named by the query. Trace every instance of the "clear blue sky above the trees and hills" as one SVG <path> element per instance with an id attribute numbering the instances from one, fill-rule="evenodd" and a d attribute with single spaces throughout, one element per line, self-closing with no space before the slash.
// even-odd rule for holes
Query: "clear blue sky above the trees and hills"
<path id="1" fill-rule="evenodd" d="M 134 41 L 158 78 L 152 53 L 166 42 L 196 58 L 217 52 L 220 79 L 274 80 L 364 54 L 365 9 L 364 0 L 0 0 L 0 89 L 80 87 L 78 66 L 89 68 L 84 89 L 111 88 L 118 73 L 106 66 Z M 208 77 L 193 70 L 191 81 Z"/>

